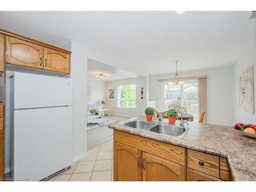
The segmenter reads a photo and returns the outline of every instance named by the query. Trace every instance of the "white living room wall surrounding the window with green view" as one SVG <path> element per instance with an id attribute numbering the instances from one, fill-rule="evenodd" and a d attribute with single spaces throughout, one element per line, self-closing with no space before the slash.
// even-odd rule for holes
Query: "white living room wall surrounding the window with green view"
<path id="1" fill-rule="evenodd" d="M 124 109 L 117 107 L 117 86 L 121 86 L 122 84 L 136 84 L 136 109 Z M 146 108 L 147 102 L 147 85 L 146 78 L 141 79 L 122 79 L 116 81 L 108 81 L 106 83 L 106 93 L 108 93 L 110 87 L 115 87 L 115 100 L 106 100 L 106 105 L 109 106 L 110 113 L 112 115 L 120 115 L 126 117 L 136 117 L 140 115 L 144 115 L 144 109 Z M 140 100 L 140 88 L 144 88 L 144 99 Z M 108 97 L 108 96 L 107 96 Z"/>

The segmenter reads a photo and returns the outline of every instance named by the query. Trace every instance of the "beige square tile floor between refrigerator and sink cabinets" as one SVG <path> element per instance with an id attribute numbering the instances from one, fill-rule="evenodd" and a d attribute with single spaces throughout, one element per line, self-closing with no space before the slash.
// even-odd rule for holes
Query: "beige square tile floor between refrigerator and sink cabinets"
<path id="1" fill-rule="evenodd" d="M 88 151 L 88 155 L 48 181 L 113 181 L 113 141 Z"/>

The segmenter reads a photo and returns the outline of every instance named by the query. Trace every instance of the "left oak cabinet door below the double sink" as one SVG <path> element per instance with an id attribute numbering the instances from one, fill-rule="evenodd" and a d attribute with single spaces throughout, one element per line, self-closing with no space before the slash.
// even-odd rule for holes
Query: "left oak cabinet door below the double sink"
<path id="1" fill-rule="evenodd" d="M 114 143 L 114 181 L 141 181 L 141 151 Z"/>

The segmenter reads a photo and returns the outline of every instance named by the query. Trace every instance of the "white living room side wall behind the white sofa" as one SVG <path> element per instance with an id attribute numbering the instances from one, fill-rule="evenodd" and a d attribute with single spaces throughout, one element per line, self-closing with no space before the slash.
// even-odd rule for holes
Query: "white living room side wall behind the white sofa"
<path id="1" fill-rule="evenodd" d="M 88 104 L 95 104 L 96 108 L 102 108 L 101 100 L 106 99 L 106 81 L 99 81 L 96 77 L 88 76 L 88 86 L 91 87 L 91 101 Z"/>

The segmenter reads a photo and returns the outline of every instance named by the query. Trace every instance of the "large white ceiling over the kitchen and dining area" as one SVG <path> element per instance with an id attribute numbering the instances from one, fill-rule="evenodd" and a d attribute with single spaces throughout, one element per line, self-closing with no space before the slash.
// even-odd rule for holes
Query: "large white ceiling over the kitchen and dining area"
<path id="1" fill-rule="evenodd" d="M 75 40 L 147 74 L 233 65 L 255 37 L 251 12 L 0 12 L 0 28 Z M 111 63 L 109 63 L 111 65 Z"/>

